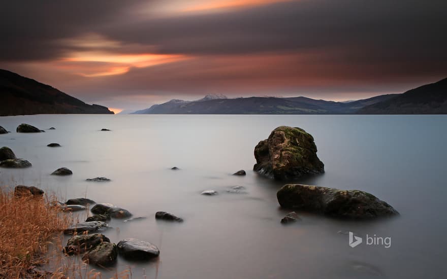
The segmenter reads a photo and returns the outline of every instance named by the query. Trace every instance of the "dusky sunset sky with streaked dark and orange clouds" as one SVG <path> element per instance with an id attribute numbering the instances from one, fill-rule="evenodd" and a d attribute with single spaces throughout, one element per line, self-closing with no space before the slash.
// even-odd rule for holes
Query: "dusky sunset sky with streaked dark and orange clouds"
<path id="1" fill-rule="evenodd" d="M 88 103 L 351 100 L 447 77 L 447 1 L 8 1 L 0 68 Z"/>

